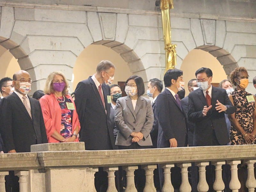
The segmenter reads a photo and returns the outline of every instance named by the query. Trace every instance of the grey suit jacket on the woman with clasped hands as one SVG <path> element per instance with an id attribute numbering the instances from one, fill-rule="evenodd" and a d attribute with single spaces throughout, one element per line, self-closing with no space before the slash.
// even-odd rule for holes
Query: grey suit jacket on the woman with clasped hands
<path id="1" fill-rule="evenodd" d="M 138 142 L 140 146 L 151 146 L 150 131 L 154 122 L 154 115 L 150 100 L 139 97 L 135 110 L 129 96 L 117 99 L 115 121 L 118 129 L 116 145 L 130 146 L 132 132 L 141 132 L 144 138 Z"/>

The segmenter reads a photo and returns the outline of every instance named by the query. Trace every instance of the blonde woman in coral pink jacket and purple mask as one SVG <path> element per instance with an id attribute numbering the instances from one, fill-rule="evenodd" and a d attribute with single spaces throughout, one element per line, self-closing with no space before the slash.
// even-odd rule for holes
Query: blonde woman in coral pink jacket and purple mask
<path id="1" fill-rule="evenodd" d="M 52 72 L 46 80 L 40 104 L 49 143 L 78 142 L 80 123 L 76 106 L 67 94 L 68 82 L 61 72 Z"/>

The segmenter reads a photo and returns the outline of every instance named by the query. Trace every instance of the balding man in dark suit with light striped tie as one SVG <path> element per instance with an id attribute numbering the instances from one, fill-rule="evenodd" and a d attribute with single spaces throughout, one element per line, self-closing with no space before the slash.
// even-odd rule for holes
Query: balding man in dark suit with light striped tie
<path id="1" fill-rule="evenodd" d="M 30 152 L 30 146 L 47 143 L 44 118 L 38 100 L 28 97 L 31 78 L 28 72 L 20 70 L 13 75 L 15 91 L 1 102 L 0 132 L 8 153 Z M 19 191 L 18 178 L 9 172 L 10 183 L 6 191 Z M 6 181 L 6 182 L 8 182 Z"/>

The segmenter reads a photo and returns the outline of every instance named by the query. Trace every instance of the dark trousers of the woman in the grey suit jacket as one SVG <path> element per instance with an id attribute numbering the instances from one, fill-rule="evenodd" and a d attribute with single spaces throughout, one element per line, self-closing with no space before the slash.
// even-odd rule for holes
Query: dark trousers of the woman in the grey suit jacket
<path id="1" fill-rule="evenodd" d="M 140 146 L 138 143 L 132 143 L 130 146 L 119 145 L 118 149 L 149 149 L 152 146 Z M 145 170 L 141 169 L 141 166 L 138 165 L 138 169 L 134 171 L 134 182 L 135 187 L 138 192 L 143 192 L 146 183 Z M 123 171 L 123 185 L 126 187 L 126 174 Z"/>

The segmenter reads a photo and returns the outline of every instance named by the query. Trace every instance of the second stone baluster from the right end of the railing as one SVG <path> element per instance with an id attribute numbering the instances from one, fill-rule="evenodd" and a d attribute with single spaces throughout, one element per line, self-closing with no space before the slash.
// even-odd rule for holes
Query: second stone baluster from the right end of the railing
<path id="1" fill-rule="evenodd" d="M 238 192 L 238 189 L 241 188 L 241 184 L 238 180 L 237 165 L 241 164 L 241 161 L 227 161 L 227 164 L 231 166 L 231 180 L 229 183 L 229 188 L 232 190 L 232 192 Z"/>

